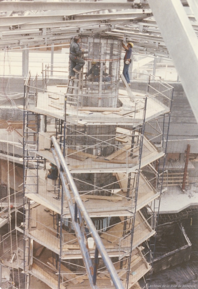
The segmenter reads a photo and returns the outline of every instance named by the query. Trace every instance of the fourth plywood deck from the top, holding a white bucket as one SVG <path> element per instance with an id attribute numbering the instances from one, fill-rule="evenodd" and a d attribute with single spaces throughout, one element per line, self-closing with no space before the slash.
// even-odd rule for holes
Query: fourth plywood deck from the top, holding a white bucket
<path id="1" fill-rule="evenodd" d="M 43 207 L 43 210 L 44 209 L 45 208 Z M 43 222 L 43 214 L 41 214 L 41 212 L 42 210 L 39 210 L 39 214 L 37 216 L 39 224 Z M 47 214 L 50 214 L 50 212 L 46 212 L 45 214 L 47 216 Z M 127 232 L 125 237 L 123 237 L 124 219 L 121 217 L 121 220 L 122 222 L 112 226 L 108 231 L 103 232 L 103 234 L 100 236 L 110 256 L 120 256 L 121 251 L 130 251 L 131 248 L 130 230 L 132 228 L 132 219 L 130 221 L 130 217 L 128 218 Z M 143 215 L 140 212 L 136 213 L 133 248 L 136 248 L 136 246 L 138 246 L 144 239 L 146 239 L 148 236 L 152 236 L 153 234 L 154 231 L 146 222 Z M 50 249 L 51 251 L 57 254 L 60 253 L 60 239 L 57 237 L 55 231 L 47 230 L 45 227 L 38 225 L 37 229 L 33 228 L 33 230 L 29 232 L 26 231 L 26 235 L 36 241 L 38 244 Z M 75 235 L 63 230 L 62 238 L 62 258 L 82 258 L 80 247 Z M 92 257 L 94 256 L 94 252 L 95 245 L 91 251 Z"/>

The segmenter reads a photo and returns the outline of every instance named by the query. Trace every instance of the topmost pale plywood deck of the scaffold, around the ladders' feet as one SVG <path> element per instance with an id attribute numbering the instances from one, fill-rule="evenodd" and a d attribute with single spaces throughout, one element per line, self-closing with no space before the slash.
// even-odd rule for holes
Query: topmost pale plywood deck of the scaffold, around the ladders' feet
<path id="1" fill-rule="evenodd" d="M 77 81 L 77 80 L 76 80 Z M 75 81 L 74 81 L 75 82 Z M 65 88 L 64 88 L 65 89 Z M 76 87 L 77 89 L 77 87 Z M 66 89 L 65 89 L 66 90 Z M 88 111 L 92 114 L 84 113 L 81 110 L 77 111 L 77 108 L 71 107 L 67 105 L 67 119 L 68 121 L 72 121 L 73 123 L 78 123 L 78 120 L 81 120 L 88 124 L 123 124 L 123 123 L 134 123 L 134 126 L 137 126 L 143 123 L 144 118 L 144 99 L 143 97 L 139 96 L 136 92 L 132 92 L 131 89 L 128 88 L 128 92 L 126 92 L 125 96 L 120 95 L 119 99 L 123 103 L 123 107 L 121 107 L 117 112 L 111 114 L 101 114 L 101 112 L 94 111 L 95 108 L 87 107 Z M 65 92 L 60 90 L 58 91 L 56 86 L 48 87 L 48 91 L 40 91 L 38 92 L 37 97 L 37 105 L 35 108 L 31 108 L 31 111 L 46 114 L 48 116 L 53 116 L 58 119 L 64 120 L 64 99 L 65 99 Z M 131 94 L 131 95 L 128 95 Z M 122 94 L 122 92 L 121 92 Z M 83 95 L 82 95 L 83 97 Z M 134 109 L 134 100 L 136 101 L 135 109 Z M 23 109 L 23 107 L 19 107 Z M 26 107 L 25 109 L 29 109 Z M 126 115 L 119 115 L 121 110 L 127 109 L 128 111 L 131 110 Z M 160 104 L 155 100 L 155 98 L 149 97 L 147 99 L 147 112 L 146 112 L 146 120 L 149 120 L 157 115 L 162 113 L 168 112 L 169 108 L 165 107 L 162 103 Z"/>

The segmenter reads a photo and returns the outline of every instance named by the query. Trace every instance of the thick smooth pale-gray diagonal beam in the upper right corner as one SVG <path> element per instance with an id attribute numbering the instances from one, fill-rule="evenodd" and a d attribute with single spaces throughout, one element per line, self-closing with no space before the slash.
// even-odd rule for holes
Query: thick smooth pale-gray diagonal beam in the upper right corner
<path id="1" fill-rule="evenodd" d="M 148 2 L 198 122 L 197 35 L 180 0 L 148 0 Z"/>

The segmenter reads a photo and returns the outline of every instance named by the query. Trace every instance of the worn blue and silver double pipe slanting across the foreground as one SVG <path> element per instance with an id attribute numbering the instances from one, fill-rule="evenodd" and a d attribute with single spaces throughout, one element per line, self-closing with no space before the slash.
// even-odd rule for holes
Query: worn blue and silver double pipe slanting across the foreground
<path id="1" fill-rule="evenodd" d="M 52 143 L 53 143 L 53 148 L 52 148 L 52 153 L 53 153 L 53 157 L 55 159 L 55 163 L 58 167 L 58 170 L 60 172 L 60 177 L 62 180 L 62 186 L 64 188 L 65 191 L 65 195 L 67 198 L 67 202 L 68 202 L 68 207 L 70 209 L 70 214 L 71 214 L 71 218 L 72 218 L 72 222 L 74 225 L 74 229 L 76 232 L 76 236 L 79 242 L 79 246 L 81 248 L 81 253 L 82 253 L 82 257 L 85 263 L 85 267 L 86 267 L 86 271 L 88 274 L 88 278 L 90 281 L 90 285 L 92 288 L 96 289 L 98 288 L 94 283 L 95 283 L 95 275 L 93 274 L 93 266 L 91 263 L 91 257 L 90 257 L 90 253 L 89 253 L 89 249 L 88 249 L 88 244 L 87 244 L 87 240 L 85 238 L 84 235 L 82 235 L 80 227 L 78 222 L 76 222 L 76 212 L 75 212 L 75 206 L 77 207 L 77 210 L 79 212 L 79 216 L 83 217 L 83 219 L 86 222 L 86 226 L 88 227 L 91 236 L 93 237 L 97 250 L 99 251 L 103 262 L 108 270 L 108 272 L 110 273 L 110 277 L 112 279 L 112 282 L 115 286 L 116 289 L 124 289 L 120 278 L 117 275 L 117 272 L 112 264 L 112 261 L 110 259 L 110 257 L 107 254 L 107 251 L 105 249 L 105 246 L 103 245 L 100 236 L 98 235 L 98 232 L 96 231 L 93 222 L 91 221 L 91 218 L 89 217 L 84 204 L 79 196 L 79 192 L 77 190 L 77 187 L 74 183 L 74 180 L 72 178 L 72 175 L 69 171 L 69 168 L 67 166 L 67 164 L 65 163 L 65 159 L 62 155 L 62 152 L 60 150 L 60 147 L 56 141 L 55 136 L 51 137 Z M 69 187 L 70 190 L 73 193 L 74 196 L 74 200 L 75 200 L 75 204 L 73 204 L 72 202 L 72 197 L 69 191 Z"/>

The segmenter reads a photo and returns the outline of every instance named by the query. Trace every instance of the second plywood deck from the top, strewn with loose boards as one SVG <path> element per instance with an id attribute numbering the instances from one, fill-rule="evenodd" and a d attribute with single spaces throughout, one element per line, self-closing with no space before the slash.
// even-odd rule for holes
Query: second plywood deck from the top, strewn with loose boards
<path id="1" fill-rule="evenodd" d="M 140 147 L 133 143 L 131 145 L 132 132 L 127 129 L 117 128 L 117 138 L 120 138 L 120 143 L 117 151 L 114 151 L 109 156 L 95 156 L 86 153 L 85 150 L 74 150 L 66 147 L 66 163 L 69 165 L 71 173 L 97 173 L 97 172 L 133 172 L 139 168 L 139 154 Z M 138 133 L 133 135 L 135 141 L 140 137 Z M 122 140 L 124 139 L 124 143 Z M 97 143 L 95 144 L 97 145 Z M 54 161 L 52 153 L 49 150 L 39 150 L 38 155 L 44 157 L 49 161 Z M 162 157 L 164 152 L 151 144 L 147 138 L 143 138 L 143 152 L 141 158 L 141 167 L 149 164 L 150 162 Z"/>

